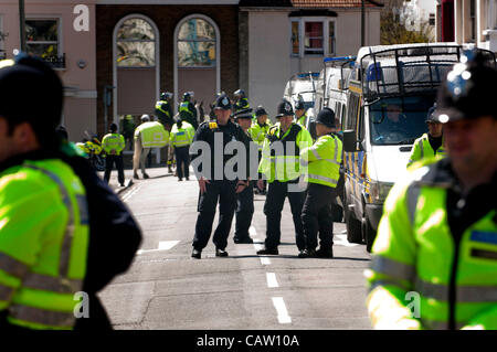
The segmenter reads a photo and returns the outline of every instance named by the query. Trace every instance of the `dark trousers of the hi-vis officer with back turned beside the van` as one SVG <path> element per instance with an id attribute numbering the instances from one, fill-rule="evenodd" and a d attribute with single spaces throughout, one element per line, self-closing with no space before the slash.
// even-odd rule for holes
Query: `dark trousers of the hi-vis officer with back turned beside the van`
<path id="1" fill-rule="evenodd" d="M 337 191 L 334 188 L 309 183 L 302 210 L 302 222 L 307 249 L 316 249 L 319 233 L 319 246 L 324 250 L 334 245 L 334 218 L 331 206 Z"/>

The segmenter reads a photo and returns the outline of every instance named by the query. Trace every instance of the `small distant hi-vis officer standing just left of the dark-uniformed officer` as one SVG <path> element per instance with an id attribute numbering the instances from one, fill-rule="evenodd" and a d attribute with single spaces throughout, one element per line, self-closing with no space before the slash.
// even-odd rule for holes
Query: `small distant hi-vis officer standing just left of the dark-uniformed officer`
<path id="1" fill-rule="evenodd" d="M 170 142 L 175 148 L 178 181 L 183 181 L 183 177 L 190 180 L 190 145 L 194 134 L 193 127 L 181 118 L 172 126 Z"/>

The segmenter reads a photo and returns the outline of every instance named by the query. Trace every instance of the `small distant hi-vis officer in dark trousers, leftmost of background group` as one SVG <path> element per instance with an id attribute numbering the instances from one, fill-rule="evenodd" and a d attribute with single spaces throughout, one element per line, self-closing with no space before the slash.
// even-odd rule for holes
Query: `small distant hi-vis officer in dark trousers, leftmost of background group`
<path id="1" fill-rule="evenodd" d="M 124 163 L 123 163 L 123 150 L 126 143 L 124 136 L 117 134 L 117 125 L 112 124 L 109 134 L 104 136 L 102 140 L 102 148 L 106 153 L 105 173 L 104 180 L 108 183 L 110 179 L 110 172 L 113 171 L 114 163 L 117 169 L 117 181 L 120 186 L 124 186 Z"/>

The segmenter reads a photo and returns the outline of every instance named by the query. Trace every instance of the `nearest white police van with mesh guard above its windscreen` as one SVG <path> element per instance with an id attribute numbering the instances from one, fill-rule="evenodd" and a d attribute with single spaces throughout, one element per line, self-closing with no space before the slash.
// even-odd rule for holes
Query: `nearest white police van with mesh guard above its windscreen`
<path id="1" fill-rule="evenodd" d="M 436 90 L 462 53 L 461 45 L 448 43 L 359 50 L 345 92 L 342 121 L 349 242 L 366 242 L 370 252 L 383 202 L 403 177 L 414 140 L 426 131 Z M 332 102 L 330 96 L 328 105 L 342 98 Z"/>

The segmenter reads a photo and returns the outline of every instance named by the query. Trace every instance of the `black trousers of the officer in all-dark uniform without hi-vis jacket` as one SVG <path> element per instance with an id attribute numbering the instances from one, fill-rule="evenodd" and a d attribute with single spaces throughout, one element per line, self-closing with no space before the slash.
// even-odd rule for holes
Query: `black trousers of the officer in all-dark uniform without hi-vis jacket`
<path id="1" fill-rule="evenodd" d="M 203 194 L 199 192 L 199 216 L 197 217 L 195 235 L 192 244 L 199 250 L 207 246 L 211 236 L 218 201 L 219 224 L 212 239 L 216 248 L 226 248 L 228 235 L 230 234 L 231 223 L 236 209 L 236 181 L 211 180 L 209 182 L 205 192 Z"/>

